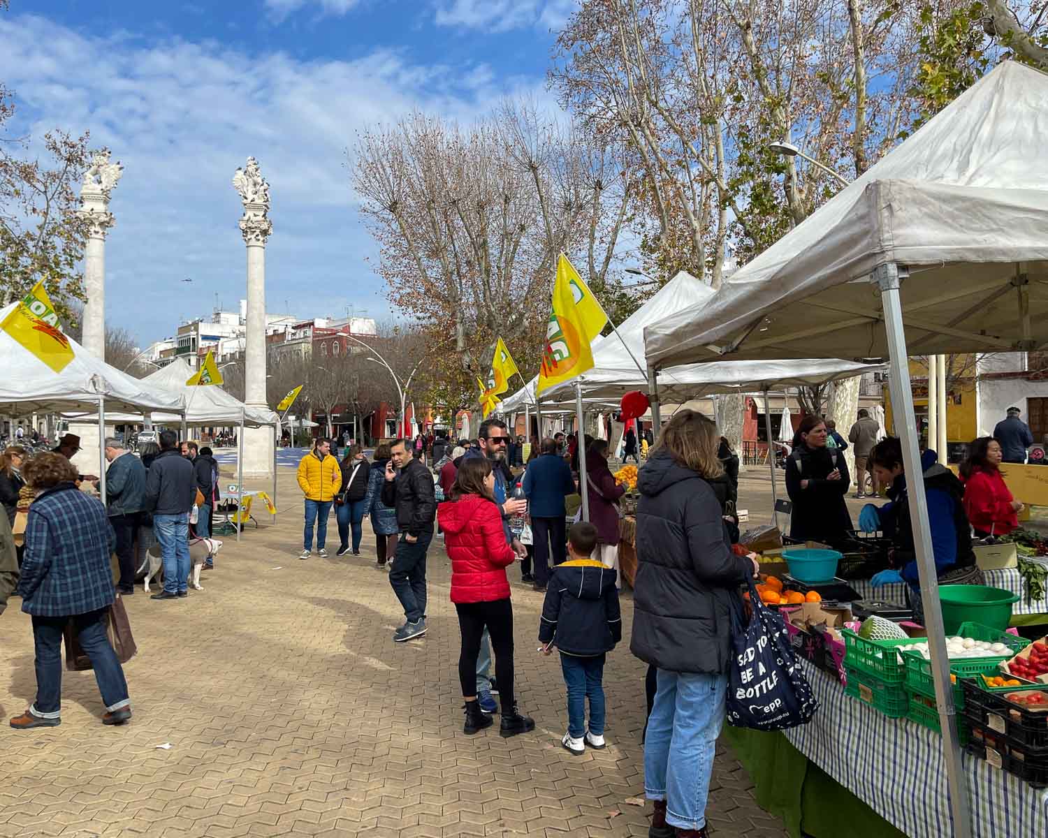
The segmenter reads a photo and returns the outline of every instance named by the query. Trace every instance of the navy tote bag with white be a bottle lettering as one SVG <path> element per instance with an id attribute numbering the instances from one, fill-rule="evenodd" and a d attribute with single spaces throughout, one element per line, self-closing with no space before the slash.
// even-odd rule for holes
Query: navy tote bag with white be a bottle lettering
<path id="1" fill-rule="evenodd" d="M 790 646 L 786 623 L 761 601 L 752 580 L 749 601 L 748 624 L 738 600 L 732 614 L 727 723 L 754 730 L 806 725 L 818 709 L 818 701 Z"/>

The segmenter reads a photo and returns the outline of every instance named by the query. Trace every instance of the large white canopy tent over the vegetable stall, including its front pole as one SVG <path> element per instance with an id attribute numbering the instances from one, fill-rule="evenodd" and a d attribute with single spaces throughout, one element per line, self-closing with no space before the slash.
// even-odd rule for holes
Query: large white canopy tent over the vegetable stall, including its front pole
<path id="1" fill-rule="evenodd" d="M 905 471 L 921 473 L 908 354 L 1048 343 L 1045 103 L 1048 75 L 1000 65 L 708 305 L 650 327 L 649 363 L 888 356 Z M 968 838 L 924 486 L 909 485 L 954 834 Z"/>

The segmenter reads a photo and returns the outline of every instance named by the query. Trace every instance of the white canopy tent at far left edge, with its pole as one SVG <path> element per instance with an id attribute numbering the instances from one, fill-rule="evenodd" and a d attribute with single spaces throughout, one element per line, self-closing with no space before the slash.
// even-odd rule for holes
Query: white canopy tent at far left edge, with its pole
<path id="1" fill-rule="evenodd" d="M 0 309 L 0 321 L 19 303 Z M 184 411 L 177 393 L 139 381 L 94 357 L 69 338 L 73 358 L 62 372 L 54 372 L 40 358 L 0 331 L 0 413 L 26 416 L 32 413 L 90 411 L 99 419 L 99 490 L 106 498 L 105 423 L 108 410 L 167 411 L 181 419 Z"/>

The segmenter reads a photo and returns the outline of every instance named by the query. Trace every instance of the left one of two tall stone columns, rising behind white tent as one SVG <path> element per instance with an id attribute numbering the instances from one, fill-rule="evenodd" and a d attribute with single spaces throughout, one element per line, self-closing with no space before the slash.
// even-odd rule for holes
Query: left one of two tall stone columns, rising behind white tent
<path id="1" fill-rule="evenodd" d="M 91 156 L 80 188 L 80 216 L 88 221 L 87 246 L 84 250 L 84 303 L 81 346 L 97 358 L 106 358 L 106 235 L 115 220 L 109 212 L 109 197 L 121 179 L 124 167 L 109 161 L 109 151 L 103 149 Z M 69 433 L 80 437 L 81 450 L 72 462 L 85 475 L 96 475 L 99 461 L 99 426 L 82 422 L 70 423 Z"/>

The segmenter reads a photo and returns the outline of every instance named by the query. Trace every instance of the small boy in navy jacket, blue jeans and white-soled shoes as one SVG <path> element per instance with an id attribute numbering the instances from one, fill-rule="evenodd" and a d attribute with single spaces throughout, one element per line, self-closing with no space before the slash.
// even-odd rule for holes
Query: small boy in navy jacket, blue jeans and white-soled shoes
<path id="1" fill-rule="evenodd" d="M 575 755 L 585 753 L 587 745 L 605 747 L 605 656 L 623 639 L 617 574 L 589 557 L 595 546 L 596 527 L 585 521 L 572 525 L 568 560 L 553 568 L 539 625 L 540 650 L 549 655 L 555 645 L 561 652 L 568 688 L 568 732 L 561 744 Z M 585 729 L 587 698 L 590 720 Z"/>

